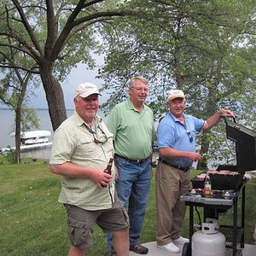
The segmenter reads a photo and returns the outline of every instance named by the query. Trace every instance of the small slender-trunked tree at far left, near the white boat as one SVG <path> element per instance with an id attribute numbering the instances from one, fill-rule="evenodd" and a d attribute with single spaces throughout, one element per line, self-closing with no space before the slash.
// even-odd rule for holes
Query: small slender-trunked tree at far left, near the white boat
<path id="1" fill-rule="evenodd" d="M 33 77 L 33 63 L 27 60 L 26 56 L 20 56 L 19 52 L 12 48 L 2 50 L 1 55 L 2 63 L 9 63 L 13 67 L 26 67 L 26 71 L 19 68 L 1 68 L 3 79 L 0 80 L 0 102 L 15 111 L 15 162 L 20 163 L 21 127 L 30 129 L 39 125 L 36 112 L 27 108 L 30 96 L 27 87 L 33 84 L 32 88 L 35 88 L 37 79 Z"/>

